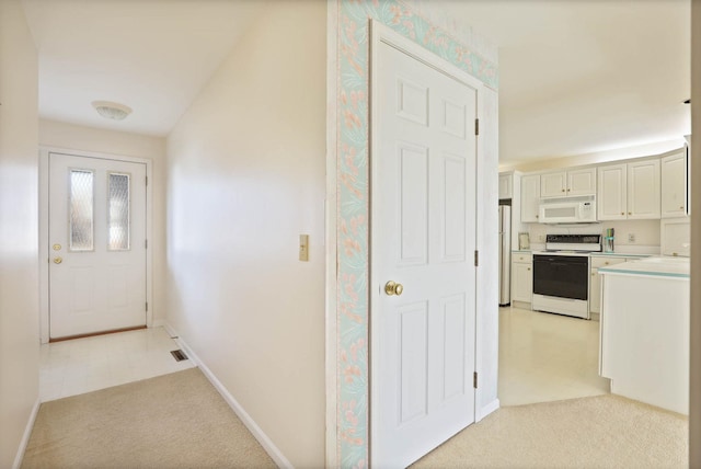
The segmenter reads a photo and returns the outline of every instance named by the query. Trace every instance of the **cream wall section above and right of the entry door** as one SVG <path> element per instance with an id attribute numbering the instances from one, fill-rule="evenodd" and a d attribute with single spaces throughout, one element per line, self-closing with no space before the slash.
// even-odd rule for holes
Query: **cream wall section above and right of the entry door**
<path id="1" fill-rule="evenodd" d="M 151 160 L 153 301 L 149 308 L 156 324 L 165 318 L 165 138 L 39 121 L 39 145 Z"/>

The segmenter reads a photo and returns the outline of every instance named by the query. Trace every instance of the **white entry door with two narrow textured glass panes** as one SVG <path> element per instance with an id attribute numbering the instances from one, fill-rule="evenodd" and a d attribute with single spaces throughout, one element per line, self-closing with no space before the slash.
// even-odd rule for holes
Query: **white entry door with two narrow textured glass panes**
<path id="1" fill-rule="evenodd" d="M 146 164 L 49 153 L 49 336 L 146 325 Z"/>

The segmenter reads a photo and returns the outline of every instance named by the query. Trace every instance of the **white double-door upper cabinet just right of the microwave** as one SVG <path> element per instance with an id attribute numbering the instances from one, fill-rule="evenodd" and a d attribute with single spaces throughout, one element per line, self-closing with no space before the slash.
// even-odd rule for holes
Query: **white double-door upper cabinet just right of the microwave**
<path id="1" fill-rule="evenodd" d="M 659 218 L 659 159 L 599 167 L 597 194 L 599 220 Z"/>

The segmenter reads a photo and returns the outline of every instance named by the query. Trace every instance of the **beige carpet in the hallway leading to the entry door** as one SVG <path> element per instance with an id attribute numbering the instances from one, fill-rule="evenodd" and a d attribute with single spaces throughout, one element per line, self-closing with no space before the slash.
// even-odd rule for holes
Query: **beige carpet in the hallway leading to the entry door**
<path id="1" fill-rule="evenodd" d="M 45 402 L 23 468 L 274 468 L 198 368 Z"/>

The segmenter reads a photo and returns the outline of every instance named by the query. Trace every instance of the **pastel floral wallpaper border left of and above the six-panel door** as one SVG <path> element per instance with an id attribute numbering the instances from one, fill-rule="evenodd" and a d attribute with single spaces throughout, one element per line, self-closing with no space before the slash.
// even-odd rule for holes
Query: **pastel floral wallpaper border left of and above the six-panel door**
<path id="1" fill-rule="evenodd" d="M 337 0 L 337 464 L 366 468 L 368 458 L 368 60 L 376 20 L 498 85 L 497 66 L 398 0 Z"/>

